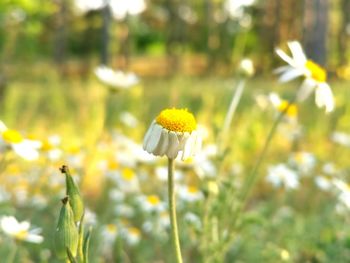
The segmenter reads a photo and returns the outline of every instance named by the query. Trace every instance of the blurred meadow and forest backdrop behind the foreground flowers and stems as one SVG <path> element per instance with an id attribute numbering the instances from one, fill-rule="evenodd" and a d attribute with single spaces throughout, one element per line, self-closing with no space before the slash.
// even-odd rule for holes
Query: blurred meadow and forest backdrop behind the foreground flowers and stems
<path id="1" fill-rule="evenodd" d="M 288 99 L 300 86 L 273 73 L 285 64 L 275 48 L 289 52 L 290 40 L 327 70 L 336 107 L 325 115 L 312 95 L 283 120 L 231 233 L 232 200 L 281 110 L 269 94 Z M 219 154 L 244 58 L 255 75 Z M 66 163 L 94 226 L 92 262 L 171 262 L 157 206 L 166 206 L 166 163 L 141 144 L 162 109 L 179 107 L 205 135 L 198 159 L 177 164 L 185 262 L 350 262 L 349 81 L 350 0 L 1 0 L 0 120 L 40 146 L 18 154 L 0 140 L 0 217 L 31 221 L 44 242 L 7 242 L 3 229 L 0 256 L 58 262 Z M 212 229 L 232 242 L 224 248 Z"/>

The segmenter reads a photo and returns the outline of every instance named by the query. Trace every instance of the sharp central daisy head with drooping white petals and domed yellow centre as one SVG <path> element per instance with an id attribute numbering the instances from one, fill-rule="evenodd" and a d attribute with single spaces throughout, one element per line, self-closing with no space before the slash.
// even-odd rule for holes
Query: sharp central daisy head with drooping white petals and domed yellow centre
<path id="1" fill-rule="evenodd" d="M 196 120 L 187 109 L 163 110 L 148 129 L 143 149 L 156 156 L 166 155 L 169 159 L 175 159 L 181 152 L 181 159 L 186 160 L 201 147 L 196 128 Z"/>

